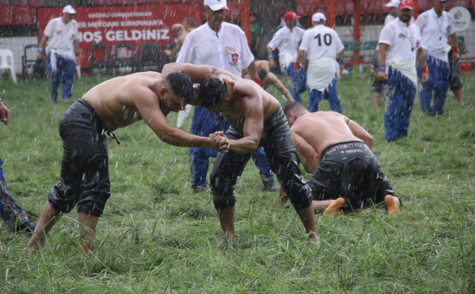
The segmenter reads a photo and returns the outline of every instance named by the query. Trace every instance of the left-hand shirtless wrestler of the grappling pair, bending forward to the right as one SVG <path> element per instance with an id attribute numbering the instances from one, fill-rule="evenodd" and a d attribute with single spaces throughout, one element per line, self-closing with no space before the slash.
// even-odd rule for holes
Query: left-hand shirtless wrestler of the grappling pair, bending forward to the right
<path id="1" fill-rule="evenodd" d="M 106 133 L 116 139 L 111 132 L 143 120 L 167 144 L 226 152 L 228 140 L 222 132 L 199 137 L 166 121 L 166 115 L 184 109 L 192 95 L 193 84 L 185 74 L 163 77 L 158 72 L 140 72 L 109 79 L 71 105 L 59 121 L 63 139 L 61 182 L 49 192 L 28 246 L 44 245 L 59 213 L 70 212 L 77 205 L 83 239 L 81 253 L 94 249 L 92 235 L 110 196 Z M 29 247 L 23 254 L 28 253 Z"/>

